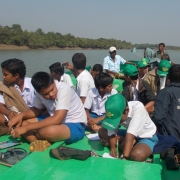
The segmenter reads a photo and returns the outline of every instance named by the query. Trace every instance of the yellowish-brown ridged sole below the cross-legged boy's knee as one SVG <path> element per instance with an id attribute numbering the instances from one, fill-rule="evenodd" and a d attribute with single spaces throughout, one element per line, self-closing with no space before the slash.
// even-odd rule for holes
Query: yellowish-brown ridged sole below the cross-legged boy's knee
<path id="1" fill-rule="evenodd" d="M 49 146 L 51 146 L 51 144 L 47 140 L 36 140 L 30 144 L 29 149 L 31 152 L 42 152 L 46 150 Z"/>

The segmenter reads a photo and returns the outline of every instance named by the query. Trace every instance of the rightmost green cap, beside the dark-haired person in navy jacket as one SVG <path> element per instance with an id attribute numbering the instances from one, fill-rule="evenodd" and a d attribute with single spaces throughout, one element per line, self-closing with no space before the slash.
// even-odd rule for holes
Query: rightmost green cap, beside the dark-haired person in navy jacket
<path id="1" fill-rule="evenodd" d="M 170 67 L 171 67 L 171 63 L 168 60 L 161 60 L 158 65 L 158 75 L 166 76 L 169 72 Z"/>

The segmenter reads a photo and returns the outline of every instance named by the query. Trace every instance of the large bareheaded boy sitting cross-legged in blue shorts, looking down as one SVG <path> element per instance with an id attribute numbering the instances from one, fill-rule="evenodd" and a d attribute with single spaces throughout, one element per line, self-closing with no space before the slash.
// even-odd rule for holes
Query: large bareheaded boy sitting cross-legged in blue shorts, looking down
<path id="1" fill-rule="evenodd" d="M 16 126 L 11 131 L 11 135 L 16 138 L 24 135 L 30 142 L 65 140 L 69 144 L 82 139 L 87 116 L 75 91 L 63 82 L 56 84 L 46 72 L 35 73 L 32 77 L 32 85 L 37 91 L 34 107 L 18 114 L 9 122 L 10 129 Z M 45 108 L 50 114 L 49 117 L 31 124 L 25 121 L 37 117 Z"/>

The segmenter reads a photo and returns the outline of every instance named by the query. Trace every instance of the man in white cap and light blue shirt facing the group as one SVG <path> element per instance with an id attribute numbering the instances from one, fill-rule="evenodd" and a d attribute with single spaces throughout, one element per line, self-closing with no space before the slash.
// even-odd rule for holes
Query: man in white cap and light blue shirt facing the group
<path id="1" fill-rule="evenodd" d="M 124 75 L 120 73 L 121 64 L 132 64 L 124 60 L 121 56 L 116 55 L 116 48 L 109 48 L 109 55 L 104 58 L 103 69 L 110 74 L 113 78 L 124 79 Z"/>

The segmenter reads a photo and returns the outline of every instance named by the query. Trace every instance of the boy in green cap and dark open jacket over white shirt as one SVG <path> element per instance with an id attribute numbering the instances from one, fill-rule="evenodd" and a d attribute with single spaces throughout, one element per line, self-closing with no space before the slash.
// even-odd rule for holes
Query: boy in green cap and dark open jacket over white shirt
<path id="1" fill-rule="evenodd" d="M 125 81 L 123 83 L 122 95 L 127 101 L 140 101 L 144 104 L 149 114 L 154 111 L 155 94 L 149 84 L 145 84 L 138 77 L 138 69 L 131 64 L 127 64 L 123 70 Z"/>

